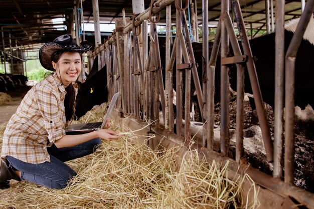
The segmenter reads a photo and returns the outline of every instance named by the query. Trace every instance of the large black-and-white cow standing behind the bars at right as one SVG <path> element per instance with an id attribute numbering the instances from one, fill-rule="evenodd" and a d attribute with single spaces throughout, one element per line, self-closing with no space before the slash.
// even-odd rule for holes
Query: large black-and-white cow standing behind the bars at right
<path id="1" fill-rule="evenodd" d="M 284 50 L 287 51 L 289 43 L 291 42 L 293 31 L 296 28 L 299 19 L 294 19 L 285 25 L 285 43 Z M 314 84 L 312 78 L 314 71 L 314 60 L 312 59 L 312 53 L 314 52 L 314 19 L 311 18 L 307 30 L 303 36 L 300 47 L 296 55 L 295 62 L 295 106 L 300 109 L 304 109 L 307 105 L 314 107 L 314 98 L 309 96 L 314 93 Z M 252 55 L 254 57 L 256 74 L 260 85 L 263 101 L 274 108 L 274 92 L 275 92 L 275 33 L 260 36 L 255 39 L 249 40 Z M 202 45 L 198 43 L 192 43 L 194 56 L 196 63 L 199 64 L 198 75 L 200 82 L 202 83 Z M 209 42 L 209 57 L 211 55 L 213 43 Z M 239 46 L 242 50 L 242 45 L 239 42 Z M 232 49 L 230 48 L 230 55 L 233 56 Z M 220 98 L 220 56 L 217 58 L 215 69 L 215 104 L 219 102 Z M 201 65 L 200 65 L 201 64 Z M 230 88 L 236 91 L 236 79 L 237 70 L 235 65 L 229 65 L 229 79 Z M 175 73 L 174 73 L 175 74 Z M 175 81 L 175 79 L 174 79 Z M 191 90 L 193 91 L 194 83 L 192 80 Z M 204 91 L 204 90 L 203 90 Z M 245 69 L 244 78 L 244 91 L 248 94 L 253 94 L 251 84 L 248 76 L 248 71 Z M 254 96 L 254 95 L 253 95 Z M 256 109 L 255 103 L 252 97 L 249 97 L 252 110 Z M 192 98 L 192 103 L 198 106 L 197 98 Z M 197 107 L 196 109 L 199 109 Z M 200 118 L 199 118 L 199 121 Z"/>

